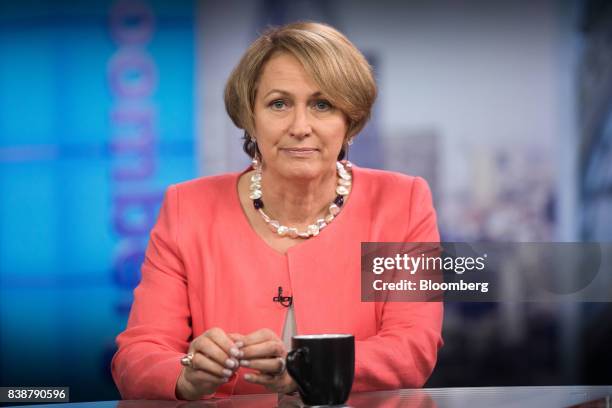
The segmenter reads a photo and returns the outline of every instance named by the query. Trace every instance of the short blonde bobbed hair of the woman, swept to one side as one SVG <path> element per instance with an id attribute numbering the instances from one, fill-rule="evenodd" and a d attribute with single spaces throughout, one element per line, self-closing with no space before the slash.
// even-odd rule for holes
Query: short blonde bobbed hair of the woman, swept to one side
<path id="1" fill-rule="evenodd" d="M 254 106 L 261 72 L 276 53 L 297 58 L 330 102 L 347 117 L 346 139 L 355 136 L 370 118 L 376 99 L 372 68 L 359 50 L 338 30 L 321 23 L 296 22 L 264 32 L 247 49 L 225 86 L 225 109 L 245 130 L 244 150 L 254 157 Z M 344 156 L 344 147 L 340 152 Z"/>

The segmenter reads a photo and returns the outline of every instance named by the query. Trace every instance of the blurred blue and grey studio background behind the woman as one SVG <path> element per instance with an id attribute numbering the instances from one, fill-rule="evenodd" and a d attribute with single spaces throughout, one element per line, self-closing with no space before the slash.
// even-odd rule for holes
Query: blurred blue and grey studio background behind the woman
<path id="1" fill-rule="evenodd" d="M 0 385 L 119 397 L 164 189 L 248 164 L 225 80 L 299 19 L 370 60 L 351 160 L 425 177 L 444 240 L 611 241 L 609 1 L 2 1 Z M 612 383 L 608 303 L 448 304 L 444 338 L 428 387 Z"/>

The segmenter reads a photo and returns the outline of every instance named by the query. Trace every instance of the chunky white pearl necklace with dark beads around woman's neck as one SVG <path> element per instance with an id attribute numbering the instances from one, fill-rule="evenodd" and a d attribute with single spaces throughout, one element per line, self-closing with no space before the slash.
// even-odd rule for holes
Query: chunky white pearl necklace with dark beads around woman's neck
<path id="1" fill-rule="evenodd" d="M 249 198 L 253 200 L 253 207 L 255 210 L 261 214 L 263 220 L 268 224 L 268 227 L 276 232 L 279 236 L 291 237 L 291 238 L 310 238 L 319 235 L 319 232 L 325 228 L 329 223 L 333 221 L 333 219 L 340 213 L 340 208 L 344 204 L 344 198 L 349 195 L 351 192 L 351 184 L 352 184 L 352 164 L 348 160 L 343 162 L 336 162 L 336 170 L 338 172 L 338 185 L 336 187 L 336 198 L 329 205 L 328 214 L 325 218 L 319 218 L 314 223 L 308 225 L 306 227 L 306 231 L 298 231 L 295 227 L 287 227 L 285 225 L 281 225 L 280 222 L 270 218 L 263 210 L 264 204 L 261 199 L 263 193 L 261 192 L 261 164 L 257 159 L 253 159 L 253 169 L 255 169 L 255 173 L 251 176 L 251 186 L 249 190 L 251 193 L 249 194 Z M 348 169 L 348 170 L 347 170 Z"/>

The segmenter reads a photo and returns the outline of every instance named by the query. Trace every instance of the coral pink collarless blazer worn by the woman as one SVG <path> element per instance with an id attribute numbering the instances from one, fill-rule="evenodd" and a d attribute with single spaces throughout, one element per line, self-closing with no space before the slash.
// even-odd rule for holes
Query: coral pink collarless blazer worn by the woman
<path id="1" fill-rule="evenodd" d="M 112 374 L 125 399 L 176 399 L 180 358 L 212 327 L 279 337 L 293 295 L 298 334 L 355 335 L 353 391 L 421 387 L 442 346 L 442 303 L 361 302 L 361 242 L 438 242 L 427 183 L 353 167 L 343 210 L 321 233 L 280 254 L 249 225 L 240 173 L 171 186 L 151 232 L 142 280 Z M 214 397 L 266 393 L 244 381 L 248 368 Z M 210 396 L 209 396 L 210 397 Z M 209 398 L 207 397 L 207 398 Z"/>

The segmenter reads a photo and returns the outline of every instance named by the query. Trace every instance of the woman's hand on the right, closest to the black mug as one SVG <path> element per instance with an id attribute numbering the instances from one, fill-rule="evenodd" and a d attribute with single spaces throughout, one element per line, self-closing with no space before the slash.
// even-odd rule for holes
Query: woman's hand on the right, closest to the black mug
<path id="1" fill-rule="evenodd" d="M 272 330 L 261 329 L 246 336 L 232 335 L 232 338 L 243 344 L 240 365 L 257 371 L 245 374 L 246 381 L 278 393 L 288 394 L 297 389 L 285 370 L 285 345 Z"/>

